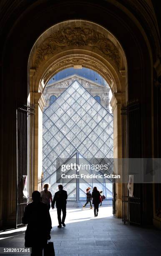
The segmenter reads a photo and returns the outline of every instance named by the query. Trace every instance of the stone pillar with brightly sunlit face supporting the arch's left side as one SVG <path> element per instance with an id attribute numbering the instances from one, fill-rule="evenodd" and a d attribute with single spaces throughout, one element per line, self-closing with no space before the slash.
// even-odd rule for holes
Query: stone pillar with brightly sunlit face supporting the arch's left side
<path id="1" fill-rule="evenodd" d="M 46 102 L 41 92 L 30 92 L 30 101 L 35 104 L 33 190 L 37 190 L 38 179 L 40 180 L 42 174 L 43 108 Z"/>

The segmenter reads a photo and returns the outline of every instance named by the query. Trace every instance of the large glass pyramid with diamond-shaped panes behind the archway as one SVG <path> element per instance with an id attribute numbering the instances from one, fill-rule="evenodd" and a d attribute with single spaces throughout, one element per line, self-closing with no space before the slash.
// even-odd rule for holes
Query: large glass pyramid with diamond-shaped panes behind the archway
<path id="1" fill-rule="evenodd" d="M 113 158 L 113 115 L 75 80 L 43 112 L 43 174 L 44 182 L 57 190 L 56 159 L 70 159 L 76 153 L 92 160 Z M 98 181 L 79 184 L 79 200 L 86 199 L 86 187 L 103 190 L 106 198 L 112 197 L 112 185 Z M 76 180 L 63 184 L 68 200 L 76 200 Z"/>

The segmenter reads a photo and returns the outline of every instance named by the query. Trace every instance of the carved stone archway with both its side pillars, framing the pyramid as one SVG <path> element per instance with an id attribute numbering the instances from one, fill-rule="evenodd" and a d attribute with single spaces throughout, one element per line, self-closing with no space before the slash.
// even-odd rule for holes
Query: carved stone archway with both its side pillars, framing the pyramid
<path id="1" fill-rule="evenodd" d="M 127 62 L 118 40 L 86 20 L 68 20 L 49 28 L 35 42 L 28 61 L 30 101 L 35 104 L 34 189 L 42 171 L 43 90 L 62 69 L 81 65 L 101 74 L 113 93 L 114 158 L 121 158 L 121 103 L 127 100 Z M 121 217 L 121 184 L 116 186 L 116 216 Z"/>

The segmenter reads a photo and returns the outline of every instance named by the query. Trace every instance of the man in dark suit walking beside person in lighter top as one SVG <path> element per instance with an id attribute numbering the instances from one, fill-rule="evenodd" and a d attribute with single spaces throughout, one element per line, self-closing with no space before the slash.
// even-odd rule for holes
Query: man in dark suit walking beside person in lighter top
<path id="1" fill-rule="evenodd" d="M 59 191 L 55 193 L 51 207 L 54 208 L 56 202 L 57 214 L 58 214 L 58 228 L 62 225 L 65 227 L 65 217 L 66 217 L 66 200 L 68 198 L 67 192 L 63 190 L 62 185 L 58 185 Z M 63 212 L 63 217 L 61 220 L 61 211 Z"/>

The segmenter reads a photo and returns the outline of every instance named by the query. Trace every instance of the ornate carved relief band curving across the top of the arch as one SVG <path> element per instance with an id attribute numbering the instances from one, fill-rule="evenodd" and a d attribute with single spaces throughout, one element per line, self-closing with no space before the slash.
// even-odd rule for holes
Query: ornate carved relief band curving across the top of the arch
<path id="1" fill-rule="evenodd" d="M 35 67 L 38 67 L 41 61 L 48 59 L 48 56 L 54 54 L 58 48 L 63 49 L 70 46 L 78 48 L 84 46 L 95 47 L 114 60 L 119 67 L 120 56 L 113 42 L 106 38 L 103 33 L 86 27 L 64 28 L 45 38 L 43 43 L 38 46 Z"/>

